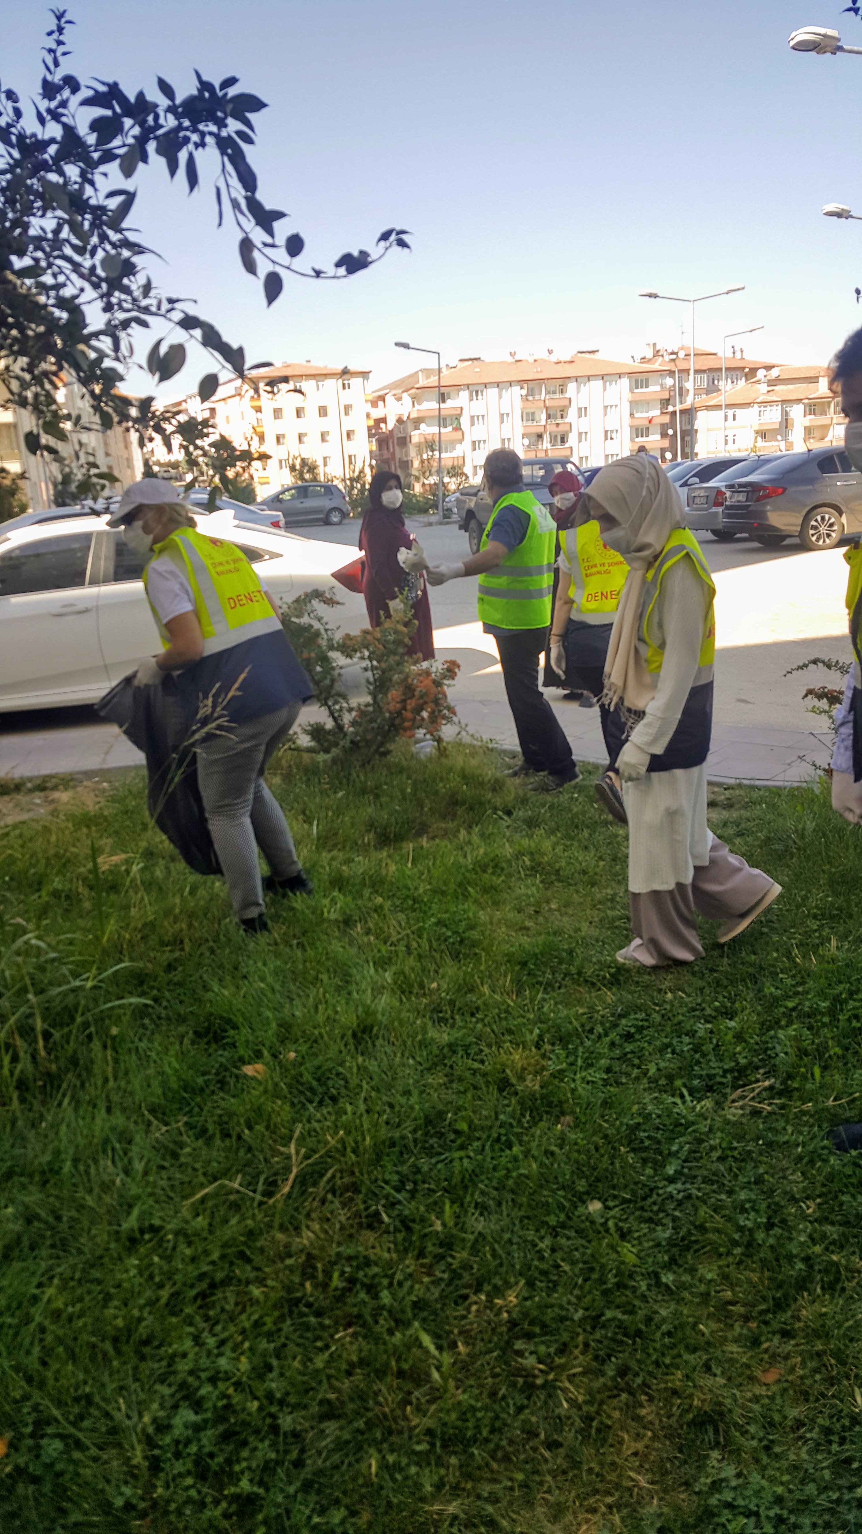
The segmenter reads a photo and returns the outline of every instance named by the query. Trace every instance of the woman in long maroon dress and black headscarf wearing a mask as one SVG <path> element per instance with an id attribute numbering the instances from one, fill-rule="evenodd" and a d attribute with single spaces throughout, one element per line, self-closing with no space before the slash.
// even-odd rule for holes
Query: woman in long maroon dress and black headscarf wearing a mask
<path id="1" fill-rule="evenodd" d="M 368 505 L 359 529 L 359 548 L 365 554 L 362 592 L 373 629 L 391 617 L 390 601 L 400 597 L 413 609 L 416 620 L 408 653 L 433 661 L 434 632 L 425 575 L 408 574 L 399 563 L 399 549 L 411 549 L 416 542 L 406 531 L 402 505 L 400 476 L 391 469 L 377 469 L 368 486 Z"/>

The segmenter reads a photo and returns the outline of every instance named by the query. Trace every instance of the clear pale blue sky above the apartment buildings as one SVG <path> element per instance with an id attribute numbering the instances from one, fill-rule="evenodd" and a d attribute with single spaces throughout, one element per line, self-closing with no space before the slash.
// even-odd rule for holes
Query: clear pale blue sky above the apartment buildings
<path id="1" fill-rule="evenodd" d="M 270 103 L 250 152 L 261 195 L 330 265 L 387 224 L 413 230 L 345 284 L 259 284 L 204 190 L 156 163 L 137 221 L 153 275 L 248 359 L 406 371 L 396 339 L 443 359 L 638 353 L 679 342 L 681 305 L 638 288 L 745 291 L 699 310 L 698 344 L 764 324 L 747 351 L 825 360 L 862 324 L 862 58 L 791 54 L 819 23 L 862 46 L 842 0 L 78 0 L 84 77 L 179 91 L 193 66 Z M 32 87 L 48 9 L 5 6 L 3 84 Z M 687 339 L 687 330 L 686 330 Z M 745 344 L 745 342 L 744 342 Z M 416 359 L 419 360 L 419 359 Z M 193 388 L 195 360 L 172 388 Z M 143 391 L 146 376 L 129 385 Z"/>

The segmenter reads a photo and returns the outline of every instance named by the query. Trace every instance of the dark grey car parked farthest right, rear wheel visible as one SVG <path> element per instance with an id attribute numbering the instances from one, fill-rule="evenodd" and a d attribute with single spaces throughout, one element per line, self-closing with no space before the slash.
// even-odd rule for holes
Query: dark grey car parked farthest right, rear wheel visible
<path id="1" fill-rule="evenodd" d="M 798 537 L 804 549 L 833 549 L 862 532 L 862 474 L 841 448 L 813 448 L 768 459 L 724 480 L 722 528 L 756 543 Z"/>

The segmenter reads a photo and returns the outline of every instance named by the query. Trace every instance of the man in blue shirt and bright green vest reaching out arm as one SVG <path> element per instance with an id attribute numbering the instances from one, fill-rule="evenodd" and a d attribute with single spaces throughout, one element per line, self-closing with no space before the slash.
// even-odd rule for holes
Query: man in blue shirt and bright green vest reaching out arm
<path id="1" fill-rule="evenodd" d="M 485 488 L 494 511 L 479 554 L 463 565 L 437 565 L 428 583 L 479 575 L 479 617 L 497 643 L 506 698 L 523 762 L 511 776 L 541 773 L 537 787 L 563 788 L 578 778 L 572 747 L 538 687 L 538 660 L 548 644 L 554 591 L 554 518 L 525 489 L 517 453 L 495 448 L 485 459 Z"/>

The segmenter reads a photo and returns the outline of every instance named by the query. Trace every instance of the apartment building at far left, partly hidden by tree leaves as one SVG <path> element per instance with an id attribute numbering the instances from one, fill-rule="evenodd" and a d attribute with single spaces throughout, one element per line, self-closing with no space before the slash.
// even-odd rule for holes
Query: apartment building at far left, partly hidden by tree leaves
<path id="1" fill-rule="evenodd" d="M 57 402 L 72 417 L 80 417 L 77 428 L 69 428 L 69 445 L 61 446 L 67 459 L 95 459 L 98 468 L 117 476 L 117 492 L 133 485 L 144 472 L 144 460 L 138 440 L 124 426 L 103 431 L 98 417 L 80 384 L 69 382 L 58 388 Z M 0 402 L 0 468 L 9 474 L 23 474 L 23 492 L 31 511 L 48 511 L 54 505 L 52 483 L 61 472 L 61 460 L 44 453 L 34 456 L 25 445 L 25 433 L 32 431 L 29 416 L 8 399 Z"/>

